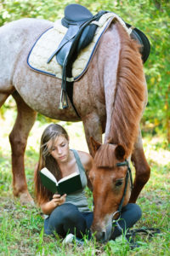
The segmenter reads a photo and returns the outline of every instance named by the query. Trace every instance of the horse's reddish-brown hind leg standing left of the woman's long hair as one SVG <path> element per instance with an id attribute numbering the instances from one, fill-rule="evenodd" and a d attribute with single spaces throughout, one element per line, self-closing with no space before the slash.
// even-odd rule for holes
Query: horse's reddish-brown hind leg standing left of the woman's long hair
<path id="1" fill-rule="evenodd" d="M 18 109 L 14 128 L 9 135 L 9 141 L 12 149 L 14 195 L 20 197 L 20 202 L 22 204 L 28 202 L 33 203 L 26 184 L 24 154 L 27 137 L 35 122 L 37 113 L 26 105 L 17 92 L 14 92 L 13 96 Z"/>

